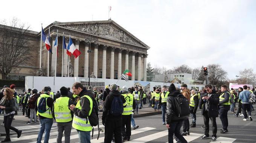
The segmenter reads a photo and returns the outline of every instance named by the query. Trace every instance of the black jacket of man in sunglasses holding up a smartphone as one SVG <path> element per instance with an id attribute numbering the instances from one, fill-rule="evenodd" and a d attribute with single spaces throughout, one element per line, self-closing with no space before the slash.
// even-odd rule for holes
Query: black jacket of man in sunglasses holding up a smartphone
<path id="1" fill-rule="evenodd" d="M 209 117 L 218 117 L 218 104 L 219 104 L 219 95 L 215 92 L 215 90 L 212 90 L 211 97 L 209 98 L 209 112 L 206 111 L 205 109 L 205 104 L 207 101 L 202 100 L 200 98 L 199 100 L 199 109 L 201 110 L 201 113 L 203 115 L 204 112 L 208 113 Z M 210 95 L 208 93 L 205 93 L 204 96 Z M 202 108 L 203 105 L 203 108 Z"/>

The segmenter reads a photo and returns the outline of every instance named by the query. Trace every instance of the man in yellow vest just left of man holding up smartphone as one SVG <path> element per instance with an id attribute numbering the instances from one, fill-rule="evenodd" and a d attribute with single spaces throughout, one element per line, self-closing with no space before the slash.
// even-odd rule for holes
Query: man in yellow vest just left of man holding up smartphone
<path id="1" fill-rule="evenodd" d="M 192 118 L 192 124 L 190 125 L 191 128 L 195 128 L 196 124 L 195 122 L 197 121 L 197 107 L 199 104 L 199 100 L 198 100 L 198 95 L 195 92 L 195 89 L 191 90 L 191 97 L 190 97 L 190 104 L 189 104 L 189 109 L 190 109 L 190 115 Z"/>

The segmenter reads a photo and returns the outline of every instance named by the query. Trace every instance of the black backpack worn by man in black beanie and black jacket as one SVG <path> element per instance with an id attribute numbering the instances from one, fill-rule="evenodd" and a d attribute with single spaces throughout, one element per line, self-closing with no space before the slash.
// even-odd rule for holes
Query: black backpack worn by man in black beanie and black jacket
<path id="1" fill-rule="evenodd" d="M 183 117 L 190 114 L 189 100 L 187 100 L 186 97 L 184 97 L 182 94 L 179 94 L 176 97 L 174 97 L 174 101 L 175 101 L 174 113 L 176 116 Z"/>

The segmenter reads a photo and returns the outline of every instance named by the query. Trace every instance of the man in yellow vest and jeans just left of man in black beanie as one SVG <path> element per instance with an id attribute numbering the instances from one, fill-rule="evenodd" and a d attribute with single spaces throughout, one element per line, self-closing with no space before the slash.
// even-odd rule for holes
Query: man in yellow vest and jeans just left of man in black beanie
<path id="1" fill-rule="evenodd" d="M 167 98 L 168 98 L 168 94 L 169 94 L 169 91 L 166 91 L 166 87 L 163 86 L 162 88 L 162 93 L 161 93 L 161 96 L 160 96 L 160 101 L 161 101 L 161 106 L 162 106 L 162 119 L 163 119 L 163 125 L 165 125 L 165 113 L 166 113 L 166 103 L 167 103 Z"/>

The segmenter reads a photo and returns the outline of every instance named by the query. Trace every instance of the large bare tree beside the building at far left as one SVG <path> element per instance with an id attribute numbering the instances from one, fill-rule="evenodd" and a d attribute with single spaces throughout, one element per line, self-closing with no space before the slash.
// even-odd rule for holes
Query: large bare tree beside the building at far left
<path id="1" fill-rule="evenodd" d="M 18 66 L 29 60 L 30 48 L 24 34 L 29 26 L 13 18 L 8 24 L 5 20 L 0 25 L 0 73 L 6 79 L 9 73 L 18 72 Z M 8 25 L 8 26 L 7 26 Z"/>

